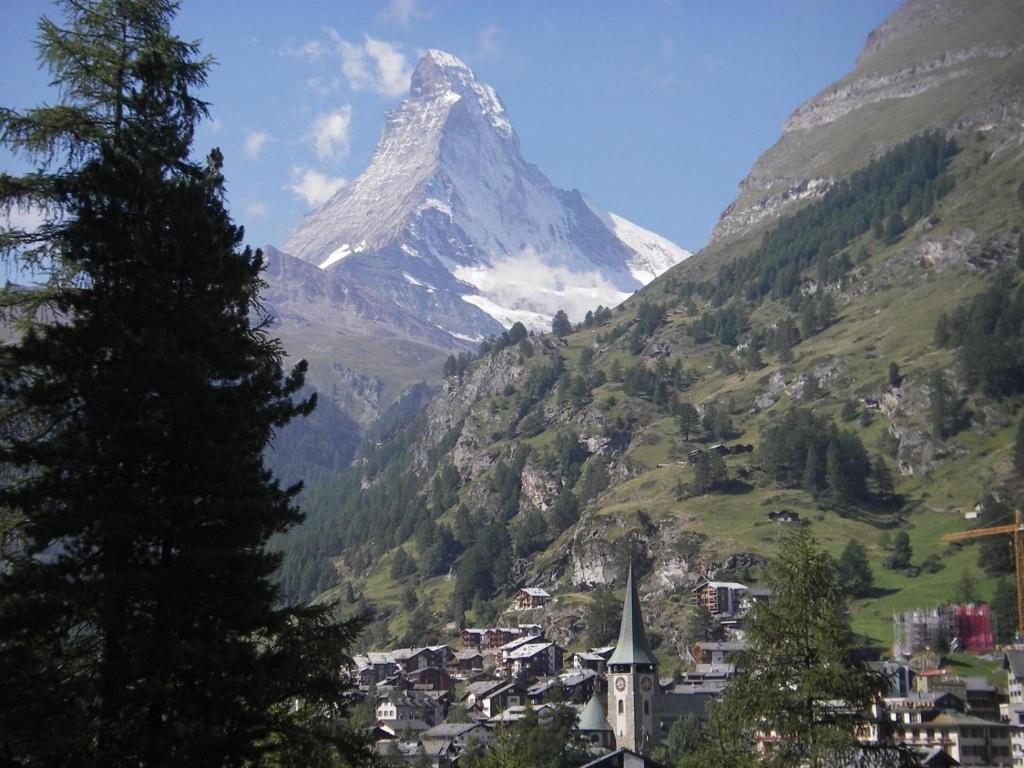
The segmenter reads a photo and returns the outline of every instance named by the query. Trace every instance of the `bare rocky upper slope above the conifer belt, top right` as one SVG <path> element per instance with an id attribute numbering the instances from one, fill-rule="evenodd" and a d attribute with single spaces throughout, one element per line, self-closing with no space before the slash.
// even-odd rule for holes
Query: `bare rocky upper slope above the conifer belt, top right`
<path id="1" fill-rule="evenodd" d="M 1017 0 L 913 0 L 867 38 L 854 70 L 801 104 L 757 162 L 709 244 L 823 195 L 837 175 L 915 131 L 1024 119 Z"/>

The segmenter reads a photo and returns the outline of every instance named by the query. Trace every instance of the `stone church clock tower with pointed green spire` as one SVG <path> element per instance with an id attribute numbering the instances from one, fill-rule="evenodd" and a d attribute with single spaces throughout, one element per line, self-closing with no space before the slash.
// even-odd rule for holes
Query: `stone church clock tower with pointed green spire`
<path id="1" fill-rule="evenodd" d="M 617 749 L 649 755 L 658 744 L 657 693 L 657 659 L 647 644 L 631 563 L 618 642 L 608 659 L 608 722 Z"/>

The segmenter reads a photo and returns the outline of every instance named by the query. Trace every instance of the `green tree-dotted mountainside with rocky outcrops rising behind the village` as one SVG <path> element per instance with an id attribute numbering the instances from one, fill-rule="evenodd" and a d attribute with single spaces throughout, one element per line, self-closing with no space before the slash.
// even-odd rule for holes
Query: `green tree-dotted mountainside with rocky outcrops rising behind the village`
<path id="1" fill-rule="evenodd" d="M 952 46 L 959 18 L 928 34 Z M 1001 18 L 999 40 L 1022 25 Z M 883 29 L 858 72 L 926 56 L 918 27 Z M 1024 108 L 1006 94 L 1024 55 L 981 65 L 998 68 L 999 110 L 979 92 L 938 119 L 911 92 L 791 127 L 780 143 L 807 130 L 831 147 L 826 188 L 741 226 L 733 210 L 705 251 L 578 327 L 451 357 L 415 418 L 308 488 L 292 597 L 369 609 L 373 644 L 492 621 L 543 586 L 555 599 L 537 617 L 582 644 L 632 558 L 669 659 L 710 630 L 690 588 L 756 583 L 799 524 L 842 555 L 854 628 L 876 643 L 894 609 L 952 600 L 965 575 L 991 599 L 1009 542 L 940 541 L 979 524 L 964 511 L 996 523 L 1022 496 Z M 848 152 L 861 109 L 888 130 Z"/>

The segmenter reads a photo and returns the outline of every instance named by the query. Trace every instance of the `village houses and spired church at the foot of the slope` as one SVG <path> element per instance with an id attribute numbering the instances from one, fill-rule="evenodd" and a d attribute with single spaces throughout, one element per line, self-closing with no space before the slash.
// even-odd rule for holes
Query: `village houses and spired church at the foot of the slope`
<path id="1" fill-rule="evenodd" d="M 530 605 L 550 596 L 524 590 L 516 599 Z M 489 743 L 496 728 L 528 713 L 543 721 L 553 707 L 567 705 L 593 752 L 587 768 L 654 766 L 650 754 L 673 723 L 687 714 L 708 717 L 745 648 L 743 615 L 769 599 L 736 582 L 693 588 L 692 603 L 729 628 L 731 639 L 694 644 L 685 653 L 688 671 L 669 678 L 657 675 L 632 573 L 613 646 L 567 654 L 540 625 L 469 628 L 458 648 L 373 651 L 355 656 L 351 673 L 373 696 L 377 751 L 410 764 L 457 766 L 466 750 Z M 858 738 L 898 740 L 932 768 L 1024 768 L 1024 649 L 1004 653 L 1007 692 L 984 678 L 951 674 L 940 662 L 930 649 L 871 662 L 891 687 Z M 767 754 L 773 744 L 774 734 L 763 733 L 757 749 Z"/>

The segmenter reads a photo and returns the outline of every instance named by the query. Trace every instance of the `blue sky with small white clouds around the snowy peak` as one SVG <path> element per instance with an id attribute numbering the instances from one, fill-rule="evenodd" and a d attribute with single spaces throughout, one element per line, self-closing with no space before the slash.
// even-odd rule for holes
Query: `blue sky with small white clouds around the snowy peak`
<path id="1" fill-rule="evenodd" d="M 369 163 L 428 48 L 493 85 L 558 186 L 699 248 L 802 101 L 839 79 L 895 0 L 184 0 L 217 65 L 197 148 L 225 156 L 234 219 L 280 245 Z M 52 100 L 46 2 L 0 0 L 0 104 Z M 17 169 L 0 156 L 0 168 Z"/>

